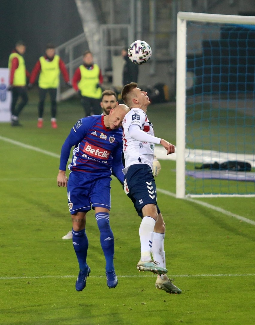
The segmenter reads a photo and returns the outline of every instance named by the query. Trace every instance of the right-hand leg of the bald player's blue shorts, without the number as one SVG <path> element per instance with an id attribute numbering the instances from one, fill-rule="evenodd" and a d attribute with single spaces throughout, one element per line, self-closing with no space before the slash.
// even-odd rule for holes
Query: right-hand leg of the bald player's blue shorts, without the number
<path id="1" fill-rule="evenodd" d="M 90 192 L 90 201 L 93 208 L 101 207 L 110 210 L 111 196 L 110 196 L 110 182 L 111 178 L 99 177 L 96 178 Z"/>

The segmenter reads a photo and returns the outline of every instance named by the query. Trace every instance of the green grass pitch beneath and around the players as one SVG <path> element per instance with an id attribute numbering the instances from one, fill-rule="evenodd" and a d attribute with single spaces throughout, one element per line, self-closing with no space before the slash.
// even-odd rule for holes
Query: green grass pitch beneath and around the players
<path id="1" fill-rule="evenodd" d="M 139 273 L 139 217 L 118 180 L 112 180 L 111 227 L 119 284 L 108 289 L 105 261 L 93 212 L 88 213 L 88 264 L 83 292 L 75 291 L 78 263 L 71 240 L 65 188 L 58 188 L 61 145 L 82 117 L 78 100 L 58 106 L 58 129 L 36 127 L 36 94 L 21 115 L 22 128 L 0 123 L 0 136 L 47 150 L 34 151 L 0 139 L 0 324 L 252 324 L 254 300 L 254 229 L 252 224 L 158 191 L 166 222 L 165 252 L 169 277 L 183 290 L 169 295 L 155 289 L 155 275 Z M 148 116 L 163 137 L 167 105 L 152 106 Z M 169 110 L 172 106 L 169 105 Z M 151 113 L 151 114 L 150 114 Z M 165 139 L 175 143 L 174 121 Z M 158 134 L 157 134 L 158 130 Z M 175 162 L 160 161 L 158 189 L 175 192 Z M 197 199 L 255 221 L 255 200 Z"/>

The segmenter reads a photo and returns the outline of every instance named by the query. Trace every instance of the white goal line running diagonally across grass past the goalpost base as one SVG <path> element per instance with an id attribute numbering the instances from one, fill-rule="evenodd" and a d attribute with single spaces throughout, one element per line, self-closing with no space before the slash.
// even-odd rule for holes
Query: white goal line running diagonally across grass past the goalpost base
<path id="1" fill-rule="evenodd" d="M 47 151 L 47 150 L 43 150 L 43 149 L 39 149 L 39 148 L 30 146 L 30 145 L 27 145 L 25 143 L 22 143 L 22 142 L 19 142 L 19 141 L 15 141 L 15 140 L 6 138 L 4 136 L 0 136 L 0 140 L 3 140 L 5 142 L 12 143 L 12 144 L 14 144 L 16 146 L 19 146 L 19 147 L 22 147 L 22 148 L 26 148 L 26 149 L 34 150 L 34 151 L 37 151 L 37 152 L 41 152 L 41 153 L 44 153 L 45 155 L 48 155 L 48 156 L 51 156 L 51 157 L 55 157 L 55 158 L 58 158 L 58 159 L 60 158 L 60 155 L 57 155 L 56 153 L 53 153 L 53 152 L 50 152 L 50 151 Z M 163 194 L 166 194 L 166 195 L 175 197 L 175 194 L 172 193 L 172 192 L 169 192 L 169 191 L 166 191 L 166 190 L 160 189 L 160 188 L 157 188 L 157 190 L 158 190 L 158 192 L 161 192 Z M 218 212 L 220 212 L 222 214 L 225 214 L 225 215 L 234 217 L 234 218 L 236 218 L 236 219 L 238 219 L 240 221 L 244 221 L 246 223 L 249 223 L 250 225 L 255 226 L 255 221 L 250 220 L 250 219 L 247 219 L 245 217 L 242 217 L 241 215 L 238 215 L 238 214 L 233 214 L 233 213 L 231 213 L 231 212 L 229 212 L 227 210 L 224 210 L 222 208 L 216 207 L 216 206 L 211 205 L 209 203 L 202 202 L 202 201 L 198 201 L 198 200 L 194 200 L 194 199 L 190 199 L 190 198 L 185 198 L 185 200 L 195 202 L 197 204 L 200 204 L 200 205 L 205 206 L 208 209 L 212 209 L 212 210 L 218 211 Z"/>

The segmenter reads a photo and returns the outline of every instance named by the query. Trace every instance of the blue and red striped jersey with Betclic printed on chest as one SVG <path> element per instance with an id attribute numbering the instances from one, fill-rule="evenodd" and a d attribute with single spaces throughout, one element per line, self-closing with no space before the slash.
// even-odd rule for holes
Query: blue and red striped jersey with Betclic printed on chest
<path id="1" fill-rule="evenodd" d="M 70 150 L 74 146 L 68 169 L 106 176 L 114 171 L 123 182 L 122 129 L 107 129 L 103 119 L 103 115 L 92 115 L 75 123 L 61 149 L 60 170 L 66 170 Z"/>

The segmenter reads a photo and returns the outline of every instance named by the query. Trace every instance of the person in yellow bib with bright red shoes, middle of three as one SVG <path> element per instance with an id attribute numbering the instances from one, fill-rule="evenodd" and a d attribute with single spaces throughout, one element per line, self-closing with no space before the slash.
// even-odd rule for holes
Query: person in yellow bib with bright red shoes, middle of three
<path id="1" fill-rule="evenodd" d="M 29 87 L 35 82 L 35 79 L 39 74 L 39 104 L 38 104 L 38 123 L 39 128 L 43 127 L 43 113 L 44 102 L 47 92 L 50 94 L 51 101 L 51 126 L 56 129 L 56 115 L 57 115 L 57 87 L 59 85 L 60 72 L 67 85 L 71 86 L 69 82 L 69 74 L 66 69 L 65 63 L 60 57 L 55 54 L 55 46 L 51 43 L 46 45 L 45 56 L 39 58 L 36 62 L 29 81 Z"/>

